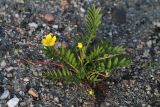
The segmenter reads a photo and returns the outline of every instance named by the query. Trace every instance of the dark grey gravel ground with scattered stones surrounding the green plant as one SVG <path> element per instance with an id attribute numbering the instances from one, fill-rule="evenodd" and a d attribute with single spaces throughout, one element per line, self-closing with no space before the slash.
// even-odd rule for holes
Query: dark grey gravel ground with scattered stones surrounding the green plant
<path id="1" fill-rule="evenodd" d="M 81 107 L 89 100 L 85 89 L 82 95 L 74 86 L 45 80 L 51 65 L 17 62 L 47 61 L 40 49 L 47 33 L 72 43 L 92 3 L 103 10 L 97 39 L 124 45 L 133 59 L 131 68 L 95 88 L 96 106 L 160 106 L 159 0 L 0 0 L 0 107 L 12 101 L 19 107 Z"/>

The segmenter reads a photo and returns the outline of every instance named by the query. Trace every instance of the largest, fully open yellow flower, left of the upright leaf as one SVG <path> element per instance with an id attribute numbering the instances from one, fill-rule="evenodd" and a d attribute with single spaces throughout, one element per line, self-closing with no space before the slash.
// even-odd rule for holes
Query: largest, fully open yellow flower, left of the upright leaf
<path id="1" fill-rule="evenodd" d="M 53 46 L 56 42 L 56 36 L 52 37 L 52 34 L 46 35 L 45 39 L 42 40 L 44 46 Z"/>

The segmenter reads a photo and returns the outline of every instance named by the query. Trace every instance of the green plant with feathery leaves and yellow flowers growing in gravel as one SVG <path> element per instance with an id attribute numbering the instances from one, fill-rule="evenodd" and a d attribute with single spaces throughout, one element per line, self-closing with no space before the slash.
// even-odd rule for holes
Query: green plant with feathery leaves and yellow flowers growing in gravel
<path id="1" fill-rule="evenodd" d="M 101 24 L 101 8 L 92 5 L 88 8 L 85 19 L 87 30 L 84 36 L 76 41 L 77 47 L 55 47 L 56 36 L 47 35 L 42 43 L 45 54 L 62 64 L 45 74 L 48 79 L 62 80 L 66 83 L 80 84 L 87 81 L 96 85 L 107 78 L 113 70 L 128 66 L 130 60 L 126 58 L 122 46 L 112 47 L 106 42 L 95 44 L 96 32 Z"/>

